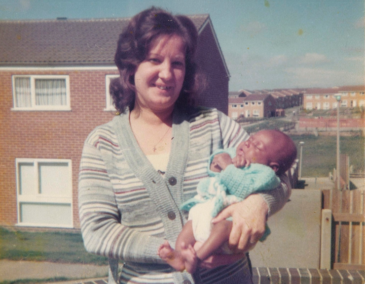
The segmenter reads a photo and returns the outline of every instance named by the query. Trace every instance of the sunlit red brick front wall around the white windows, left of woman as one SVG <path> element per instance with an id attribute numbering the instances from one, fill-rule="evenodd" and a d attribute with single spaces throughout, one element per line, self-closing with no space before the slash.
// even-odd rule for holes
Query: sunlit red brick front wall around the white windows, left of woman
<path id="1" fill-rule="evenodd" d="M 72 159 L 73 223 L 79 227 L 77 178 L 82 145 L 89 132 L 110 121 L 104 111 L 105 75 L 117 71 L 0 72 L 0 224 L 17 223 L 15 158 Z M 70 76 L 71 111 L 12 111 L 12 75 Z"/>

